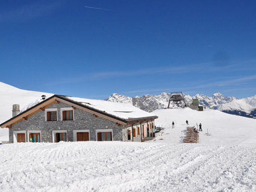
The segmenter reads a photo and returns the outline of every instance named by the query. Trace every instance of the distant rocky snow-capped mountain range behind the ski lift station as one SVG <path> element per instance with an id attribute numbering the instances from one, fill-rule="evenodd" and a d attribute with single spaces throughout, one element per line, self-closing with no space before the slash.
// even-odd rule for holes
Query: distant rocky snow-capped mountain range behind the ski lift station
<path id="1" fill-rule="evenodd" d="M 158 96 L 145 94 L 142 97 L 126 97 L 117 93 L 112 94 L 106 101 L 130 103 L 134 106 L 152 112 L 154 110 L 166 108 L 168 106 L 170 93 L 161 93 Z M 193 99 L 198 99 L 199 105 L 213 110 L 223 111 L 229 114 L 256 118 L 256 95 L 251 98 L 237 99 L 235 97 L 223 96 L 221 93 L 215 93 L 208 97 L 204 94 L 190 96 L 184 94 L 187 105 L 192 104 Z"/>

